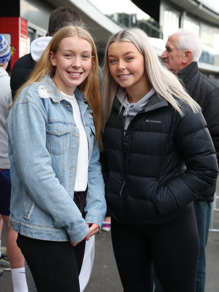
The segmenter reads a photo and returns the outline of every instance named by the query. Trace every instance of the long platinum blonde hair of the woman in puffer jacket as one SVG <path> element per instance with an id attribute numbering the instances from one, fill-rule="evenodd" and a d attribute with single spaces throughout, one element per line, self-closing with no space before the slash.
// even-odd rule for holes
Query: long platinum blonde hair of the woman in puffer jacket
<path id="1" fill-rule="evenodd" d="M 145 70 L 155 91 L 159 96 L 165 98 L 181 117 L 185 115 L 185 111 L 180 101 L 187 103 L 194 113 L 199 112 L 200 107 L 197 102 L 183 89 L 179 79 L 166 69 L 165 65 L 159 60 L 149 42 L 147 34 L 142 29 L 133 27 L 113 34 L 106 46 L 101 96 L 102 131 L 104 131 L 105 124 L 111 113 L 117 90 L 120 88 L 109 71 L 108 49 L 109 45 L 115 41 L 129 41 L 135 44 L 145 57 Z"/>

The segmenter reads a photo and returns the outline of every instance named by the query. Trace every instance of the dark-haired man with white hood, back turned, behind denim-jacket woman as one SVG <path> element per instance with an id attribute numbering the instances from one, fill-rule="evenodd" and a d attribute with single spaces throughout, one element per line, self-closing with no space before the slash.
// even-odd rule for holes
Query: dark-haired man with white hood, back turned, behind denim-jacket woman
<path id="1" fill-rule="evenodd" d="M 10 81 L 12 99 L 14 99 L 15 93 L 18 88 L 23 83 L 25 83 L 25 81 L 27 81 L 29 75 L 34 69 L 36 62 L 39 60 L 40 57 L 39 52 L 42 53 L 46 48 L 46 45 L 50 41 L 50 39 L 47 39 L 47 37 L 53 35 L 57 27 L 61 27 L 65 25 L 65 23 L 74 21 L 82 22 L 80 15 L 71 8 L 58 7 L 52 11 L 49 18 L 47 35 L 38 38 L 37 43 L 35 42 L 36 46 L 31 46 L 30 53 L 19 58 L 13 66 Z"/>

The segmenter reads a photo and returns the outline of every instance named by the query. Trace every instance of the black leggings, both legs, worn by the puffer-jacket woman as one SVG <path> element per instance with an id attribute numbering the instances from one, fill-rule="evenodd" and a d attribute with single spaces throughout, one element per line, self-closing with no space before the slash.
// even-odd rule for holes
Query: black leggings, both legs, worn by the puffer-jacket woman
<path id="1" fill-rule="evenodd" d="M 153 266 L 164 292 L 195 292 L 199 234 L 193 206 L 168 223 L 120 224 L 111 218 L 114 255 L 124 292 L 152 292 Z"/>

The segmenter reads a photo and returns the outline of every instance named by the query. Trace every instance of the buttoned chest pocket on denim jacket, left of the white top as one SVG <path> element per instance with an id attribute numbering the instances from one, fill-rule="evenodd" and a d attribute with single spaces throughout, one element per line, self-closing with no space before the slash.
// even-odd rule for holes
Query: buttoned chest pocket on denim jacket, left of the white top
<path id="1" fill-rule="evenodd" d="M 69 132 L 71 132 L 69 124 L 62 122 L 48 123 L 46 127 L 46 148 L 48 152 L 55 155 L 66 152 L 70 139 Z"/>

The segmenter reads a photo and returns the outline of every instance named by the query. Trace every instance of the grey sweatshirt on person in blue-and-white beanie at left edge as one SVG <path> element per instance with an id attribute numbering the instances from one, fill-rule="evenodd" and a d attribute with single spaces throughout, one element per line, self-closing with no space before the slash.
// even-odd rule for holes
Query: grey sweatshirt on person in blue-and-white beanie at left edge
<path id="1" fill-rule="evenodd" d="M 0 168 L 3 169 L 10 168 L 6 119 L 11 103 L 10 77 L 6 70 L 0 67 Z"/>

